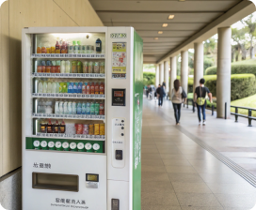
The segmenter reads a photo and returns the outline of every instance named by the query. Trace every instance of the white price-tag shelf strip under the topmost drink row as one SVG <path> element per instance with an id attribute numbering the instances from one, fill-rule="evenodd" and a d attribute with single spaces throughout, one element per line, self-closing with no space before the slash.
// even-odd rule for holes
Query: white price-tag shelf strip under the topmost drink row
<path id="1" fill-rule="evenodd" d="M 104 53 L 72 53 L 72 54 L 58 54 L 58 53 L 33 53 L 31 58 L 94 58 L 101 59 L 105 58 Z"/>

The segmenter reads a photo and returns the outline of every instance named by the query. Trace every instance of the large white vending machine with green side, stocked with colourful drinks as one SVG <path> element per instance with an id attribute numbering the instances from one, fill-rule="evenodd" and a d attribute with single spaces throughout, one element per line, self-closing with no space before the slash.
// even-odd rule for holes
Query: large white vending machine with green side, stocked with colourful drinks
<path id="1" fill-rule="evenodd" d="M 133 27 L 23 30 L 23 210 L 140 210 Z"/>

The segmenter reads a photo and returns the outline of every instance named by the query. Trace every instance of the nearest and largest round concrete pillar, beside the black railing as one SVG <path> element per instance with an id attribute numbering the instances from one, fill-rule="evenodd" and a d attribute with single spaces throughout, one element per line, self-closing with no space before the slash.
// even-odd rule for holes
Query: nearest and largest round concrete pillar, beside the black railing
<path id="1" fill-rule="evenodd" d="M 216 117 L 224 118 L 225 103 L 227 117 L 231 116 L 231 69 L 232 69 L 232 29 L 218 28 L 217 69 L 216 69 Z"/>

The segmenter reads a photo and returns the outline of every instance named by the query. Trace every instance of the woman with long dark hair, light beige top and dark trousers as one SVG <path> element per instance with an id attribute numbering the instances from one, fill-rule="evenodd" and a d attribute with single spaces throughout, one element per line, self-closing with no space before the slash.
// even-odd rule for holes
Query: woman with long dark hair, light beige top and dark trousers
<path id="1" fill-rule="evenodd" d="M 180 125 L 181 119 L 181 108 L 183 102 L 183 87 L 179 80 L 174 81 L 174 88 L 171 90 L 171 102 L 174 109 L 174 116 L 176 120 L 176 125 Z"/>

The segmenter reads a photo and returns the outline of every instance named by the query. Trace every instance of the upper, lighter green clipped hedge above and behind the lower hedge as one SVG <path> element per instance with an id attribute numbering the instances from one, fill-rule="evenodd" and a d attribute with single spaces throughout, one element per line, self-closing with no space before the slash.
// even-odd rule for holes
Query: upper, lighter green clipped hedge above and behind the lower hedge
<path id="1" fill-rule="evenodd" d="M 216 67 L 208 67 L 206 75 L 216 74 Z M 252 64 L 232 64 L 232 74 L 254 74 L 256 76 L 256 65 Z"/>

